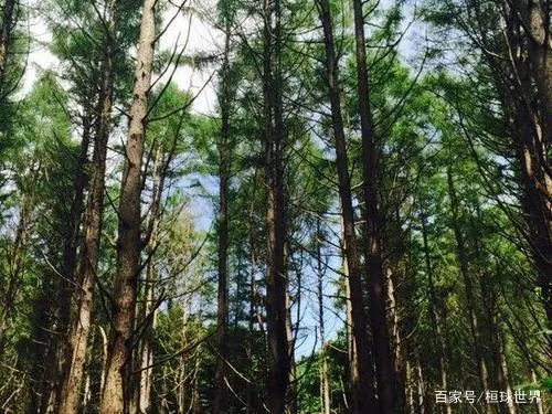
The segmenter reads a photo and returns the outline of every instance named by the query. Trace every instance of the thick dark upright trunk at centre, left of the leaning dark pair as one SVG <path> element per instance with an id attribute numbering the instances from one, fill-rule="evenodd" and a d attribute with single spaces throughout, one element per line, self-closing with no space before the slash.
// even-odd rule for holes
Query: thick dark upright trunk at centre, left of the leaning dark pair
<path id="1" fill-rule="evenodd" d="M 275 24 L 273 28 L 273 17 Z M 284 136 L 282 74 L 279 57 L 282 25 L 279 0 L 264 3 L 264 112 L 268 256 L 266 269 L 266 316 L 268 335 L 268 406 L 272 414 L 283 414 L 289 385 L 290 353 L 286 331 L 286 255 L 287 237 L 284 193 Z M 273 41 L 274 36 L 274 41 Z"/>

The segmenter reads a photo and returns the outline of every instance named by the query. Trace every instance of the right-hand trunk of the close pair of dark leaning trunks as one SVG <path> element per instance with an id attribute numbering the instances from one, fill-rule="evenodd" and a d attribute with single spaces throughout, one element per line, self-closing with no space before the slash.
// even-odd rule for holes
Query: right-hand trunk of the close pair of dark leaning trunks
<path id="1" fill-rule="evenodd" d="M 385 272 L 382 258 L 382 222 L 378 206 L 378 145 L 373 130 L 368 87 L 367 51 L 364 39 L 364 14 L 362 0 L 353 0 L 354 39 L 357 55 L 357 88 L 362 135 L 362 190 L 365 221 L 365 272 L 369 293 L 369 319 L 372 329 L 375 378 L 381 413 L 395 411 L 391 342 L 388 331 L 388 298 Z"/>

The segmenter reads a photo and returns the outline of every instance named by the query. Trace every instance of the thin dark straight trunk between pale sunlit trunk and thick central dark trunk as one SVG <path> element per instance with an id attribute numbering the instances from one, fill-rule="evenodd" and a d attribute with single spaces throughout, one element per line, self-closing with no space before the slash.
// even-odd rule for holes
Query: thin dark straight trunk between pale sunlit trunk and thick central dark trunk
<path id="1" fill-rule="evenodd" d="M 216 368 L 214 374 L 213 413 L 226 410 L 226 385 L 224 383 L 226 352 L 227 304 L 227 250 L 229 250 L 229 135 L 230 135 L 230 21 L 226 17 L 224 61 L 222 65 L 221 136 L 219 142 L 219 294 L 216 311 Z"/>

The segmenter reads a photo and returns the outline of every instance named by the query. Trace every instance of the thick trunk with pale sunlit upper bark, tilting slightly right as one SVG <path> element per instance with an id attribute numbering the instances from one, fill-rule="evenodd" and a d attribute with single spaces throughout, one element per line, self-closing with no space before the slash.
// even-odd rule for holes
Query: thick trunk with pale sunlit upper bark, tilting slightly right
<path id="1" fill-rule="evenodd" d="M 136 289 L 140 261 L 141 158 L 156 40 L 155 0 L 145 0 L 123 171 L 117 241 L 115 306 L 109 332 L 102 413 L 128 411 Z"/>

